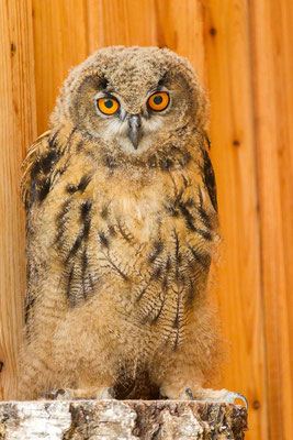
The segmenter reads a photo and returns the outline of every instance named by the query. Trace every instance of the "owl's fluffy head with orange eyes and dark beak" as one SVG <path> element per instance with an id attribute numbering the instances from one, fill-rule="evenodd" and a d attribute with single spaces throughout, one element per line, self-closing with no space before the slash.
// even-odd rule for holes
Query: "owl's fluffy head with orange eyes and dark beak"
<path id="1" fill-rule="evenodd" d="M 185 58 L 167 48 L 113 46 L 71 70 L 52 117 L 60 121 L 137 156 L 204 129 L 206 99 Z"/>

